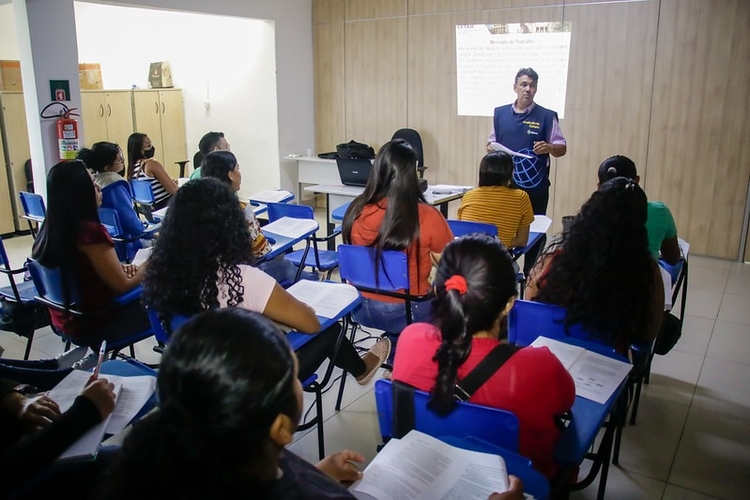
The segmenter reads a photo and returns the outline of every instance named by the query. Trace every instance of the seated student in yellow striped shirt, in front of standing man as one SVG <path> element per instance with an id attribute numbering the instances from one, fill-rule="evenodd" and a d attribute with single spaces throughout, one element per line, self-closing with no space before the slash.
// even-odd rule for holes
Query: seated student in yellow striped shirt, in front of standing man
<path id="1" fill-rule="evenodd" d="M 479 164 L 479 187 L 464 194 L 458 218 L 497 226 L 500 241 L 524 247 L 534 211 L 526 191 L 513 184 L 513 159 L 508 153 L 488 153 Z"/>

